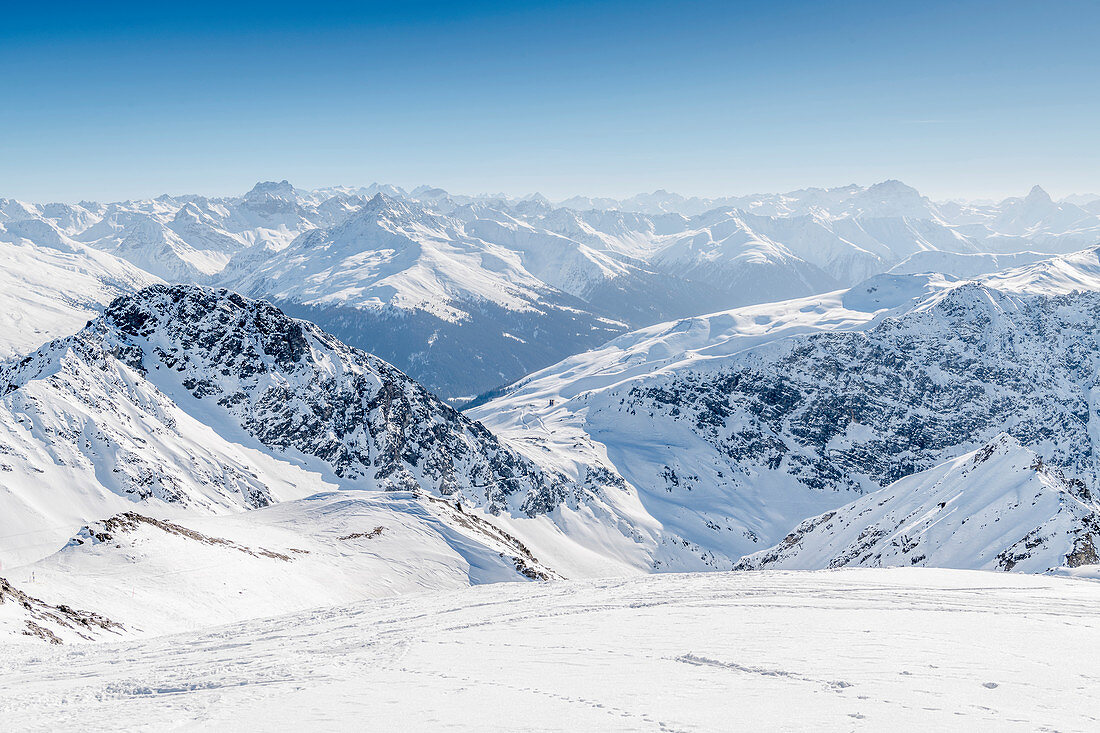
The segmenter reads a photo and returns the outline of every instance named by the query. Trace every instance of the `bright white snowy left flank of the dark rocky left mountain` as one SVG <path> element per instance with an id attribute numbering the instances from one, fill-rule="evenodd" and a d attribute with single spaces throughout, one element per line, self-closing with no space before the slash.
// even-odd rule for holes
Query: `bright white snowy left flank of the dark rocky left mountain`
<path id="1" fill-rule="evenodd" d="M 228 512 L 245 506 L 250 492 L 297 499 L 324 486 L 255 441 L 227 439 L 223 420 L 188 414 L 132 369 L 114 363 L 102 373 L 78 349 L 58 346 L 43 379 L 0 401 L 4 568 L 53 553 L 84 522 L 131 508 L 139 496 Z"/>

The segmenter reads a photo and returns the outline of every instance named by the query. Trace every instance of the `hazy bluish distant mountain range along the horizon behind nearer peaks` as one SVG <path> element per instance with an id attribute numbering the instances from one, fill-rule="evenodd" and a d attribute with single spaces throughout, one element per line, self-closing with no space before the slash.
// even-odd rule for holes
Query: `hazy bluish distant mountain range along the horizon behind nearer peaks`
<path id="1" fill-rule="evenodd" d="M 461 405 L 652 324 L 888 271 L 975 276 L 1077 251 L 1100 240 L 1100 209 L 1038 187 L 999 204 L 934 203 L 897 180 L 558 205 L 284 180 L 240 197 L 3 199 L 0 226 L 6 241 L 64 239 L 145 277 L 267 298 Z"/>

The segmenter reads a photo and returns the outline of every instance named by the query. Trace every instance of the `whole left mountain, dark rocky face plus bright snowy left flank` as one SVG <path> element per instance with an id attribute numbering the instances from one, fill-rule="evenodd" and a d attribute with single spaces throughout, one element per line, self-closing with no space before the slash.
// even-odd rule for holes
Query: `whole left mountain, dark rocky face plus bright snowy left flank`
<path id="1" fill-rule="evenodd" d="M 535 515 L 574 484 L 382 360 L 272 305 L 154 285 L 0 366 L 0 551 L 134 502 L 223 514 L 333 488 Z"/>

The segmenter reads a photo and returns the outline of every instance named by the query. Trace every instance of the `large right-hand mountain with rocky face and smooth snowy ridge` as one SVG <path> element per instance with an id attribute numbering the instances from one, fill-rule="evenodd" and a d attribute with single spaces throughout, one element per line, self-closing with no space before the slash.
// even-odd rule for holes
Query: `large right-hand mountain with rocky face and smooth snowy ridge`
<path id="1" fill-rule="evenodd" d="M 1100 293 L 1080 287 L 1096 256 L 985 283 L 879 275 L 641 329 L 470 414 L 562 472 L 620 475 L 657 543 L 711 567 L 1002 431 L 1091 501 Z"/>

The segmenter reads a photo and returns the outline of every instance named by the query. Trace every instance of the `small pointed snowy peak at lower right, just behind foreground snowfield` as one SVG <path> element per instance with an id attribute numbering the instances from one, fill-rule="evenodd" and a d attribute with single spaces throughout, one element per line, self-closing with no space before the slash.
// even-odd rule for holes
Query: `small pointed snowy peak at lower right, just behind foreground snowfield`
<path id="1" fill-rule="evenodd" d="M 1100 562 L 1100 504 L 1002 435 L 806 519 L 739 569 L 844 566 L 1043 572 Z"/>

